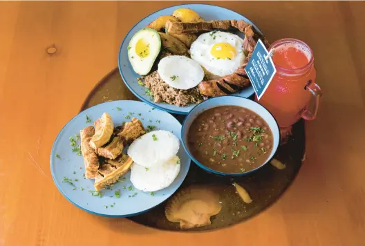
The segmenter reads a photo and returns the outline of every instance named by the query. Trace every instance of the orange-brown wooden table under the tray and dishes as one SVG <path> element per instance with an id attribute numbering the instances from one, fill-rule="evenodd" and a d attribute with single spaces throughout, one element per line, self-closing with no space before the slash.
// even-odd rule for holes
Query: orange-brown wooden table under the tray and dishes
<path id="1" fill-rule="evenodd" d="M 306 161 L 275 205 L 247 223 L 179 234 L 71 205 L 50 176 L 57 133 L 117 66 L 136 21 L 177 2 L 0 3 L 0 245 L 365 245 L 365 4 L 214 2 L 270 41 L 315 53 L 324 91 Z M 49 46 L 57 51 L 48 55 Z"/>

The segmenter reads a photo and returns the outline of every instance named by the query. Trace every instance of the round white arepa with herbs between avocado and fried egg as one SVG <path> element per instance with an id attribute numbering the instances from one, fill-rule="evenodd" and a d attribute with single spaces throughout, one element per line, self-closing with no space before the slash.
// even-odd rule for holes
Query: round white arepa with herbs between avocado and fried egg
<path id="1" fill-rule="evenodd" d="M 198 62 L 182 55 L 162 58 L 157 71 L 169 86 L 181 90 L 194 88 L 204 78 L 204 70 Z"/>

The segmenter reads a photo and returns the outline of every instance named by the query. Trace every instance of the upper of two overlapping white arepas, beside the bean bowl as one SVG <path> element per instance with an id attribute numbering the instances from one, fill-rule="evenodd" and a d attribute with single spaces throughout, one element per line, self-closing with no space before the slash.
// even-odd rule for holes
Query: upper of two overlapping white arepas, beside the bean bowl
<path id="1" fill-rule="evenodd" d="M 180 140 L 169 131 L 151 131 L 132 142 L 128 155 L 143 167 L 153 167 L 173 158 L 180 148 Z"/>

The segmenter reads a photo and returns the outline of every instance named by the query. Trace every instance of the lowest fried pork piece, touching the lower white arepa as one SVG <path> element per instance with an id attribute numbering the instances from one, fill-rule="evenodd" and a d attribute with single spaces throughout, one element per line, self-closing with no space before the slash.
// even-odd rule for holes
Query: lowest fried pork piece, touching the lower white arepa
<path id="1" fill-rule="evenodd" d="M 102 164 L 95 176 L 95 190 L 100 191 L 100 189 L 104 189 L 107 185 L 117 182 L 118 178 L 131 169 L 133 164 L 132 158 L 128 157 L 127 159 L 124 158 L 124 160 L 125 162 L 120 164 L 119 167 L 113 166 L 109 163 Z"/>

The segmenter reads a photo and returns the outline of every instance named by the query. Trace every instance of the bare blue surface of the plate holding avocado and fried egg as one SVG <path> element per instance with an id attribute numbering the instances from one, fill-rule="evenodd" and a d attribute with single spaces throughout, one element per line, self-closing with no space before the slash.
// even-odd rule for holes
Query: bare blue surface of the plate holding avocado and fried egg
<path id="1" fill-rule="evenodd" d="M 137 82 L 137 78 L 140 77 L 137 73 L 134 73 L 133 68 L 131 64 L 129 63 L 128 59 L 128 53 L 127 53 L 127 47 L 129 44 L 129 41 L 137 32 L 138 30 L 146 27 L 151 21 L 155 20 L 156 18 L 160 17 L 161 15 L 172 15 L 172 12 L 178 8 L 190 8 L 191 10 L 194 10 L 198 12 L 198 14 L 203 17 L 205 20 L 213 20 L 213 19 L 243 19 L 247 23 L 252 24 L 256 30 L 259 30 L 252 21 L 244 17 L 243 15 L 238 14 L 237 12 L 234 12 L 232 10 L 228 10 L 227 8 L 222 8 L 218 6 L 212 6 L 207 4 L 183 4 L 180 6 L 173 6 L 169 8 L 165 8 L 163 10 L 158 10 L 157 12 L 152 13 L 148 17 L 145 17 L 141 21 L 135 24 L 133 28 L 127 33 L 126 37 L 124 37 L 124 40 L 122 42 L 122 45 L 120 46 L 119 55 L 118 55 L 118 66 L 120 75 L 122 75 L 122 78 L 129 88 L 133 92 L 134 95 L 136 95 L 140 100 L 143 102 L 147 102 L 147 104 L 153 105 L 156 108 L 160 108 L 164 111 L 168 111 L 170 113 L 176 113 L 181 115 L 187 115 L 189 111 L 191 111 L 191 108 L 194 108 L 195 104 L 189 105 L 189 106 L 176 106 L 176 105 L 170 105 L 166 103 L 156 103 L 153 102 L 153 100 L 150 99 L 149 95 L 146 95 L 144 93 L 144 87 L 139 86 Z M 261 30 L 259 30 L 261 32 Z M 262 34 L 262 32 L 261 32 Z M 236 32 L 236 35 L 239 35 L 240 37 L 244 37 L 243 33 Z M 254 89 L 252 86 L 243 89 L 240 93 L 238 93 L 241 97 L 250 97 L 254 93 Z"/>

